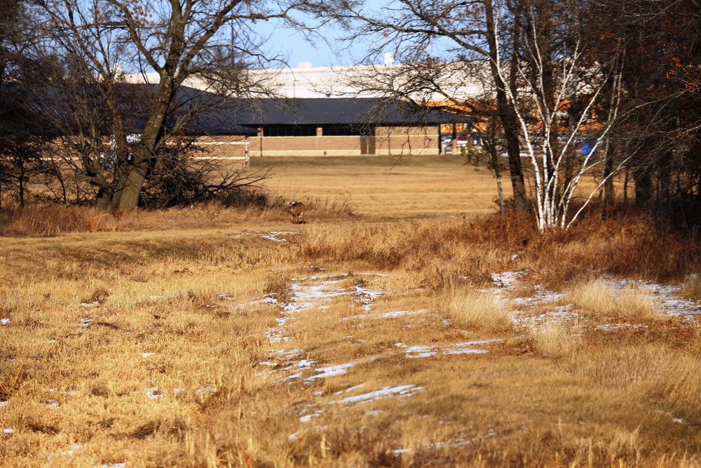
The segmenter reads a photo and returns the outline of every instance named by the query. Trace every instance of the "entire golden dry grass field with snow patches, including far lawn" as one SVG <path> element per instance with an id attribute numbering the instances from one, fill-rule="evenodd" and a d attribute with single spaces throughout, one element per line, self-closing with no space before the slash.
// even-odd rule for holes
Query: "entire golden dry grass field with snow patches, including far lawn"
<path id="1" fill-rule="evenodd" d="M 701 466 L 699 246 L 537 235 L 457 159 L 265 162 L 306 223 L 1 213 L 1 466 Z"/>

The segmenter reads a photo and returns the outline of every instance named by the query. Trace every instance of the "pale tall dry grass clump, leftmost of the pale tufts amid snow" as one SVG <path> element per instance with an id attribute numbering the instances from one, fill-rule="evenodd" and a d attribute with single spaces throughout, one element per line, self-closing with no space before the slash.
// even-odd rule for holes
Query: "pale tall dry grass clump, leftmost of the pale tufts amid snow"
<path id="1" fill-rule="evenodd" d="M 458 328 L 476 328 L 498 333 L 514 327 L 511 313 L 491 293 L 458 288 L 447 293 L 439 307 L 451 324 Z"/>

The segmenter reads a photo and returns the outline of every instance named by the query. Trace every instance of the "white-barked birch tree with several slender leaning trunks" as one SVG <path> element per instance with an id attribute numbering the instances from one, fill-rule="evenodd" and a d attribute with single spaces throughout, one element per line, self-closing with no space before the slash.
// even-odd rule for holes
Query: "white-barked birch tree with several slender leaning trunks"
<path id="1" fill-rule="evenodd" d="M 618 122 L 621 75 L 615 57 L 609 62 L 597 63 L 593 70 L 583 69 L 587 44 L 578 32 L 572 35 L 568 46 L 554 53 L 550 32 L 539 29 L 544 23 L 539 15 L 547 14 L 545 23 L 548 25 L 551 21 L 549 8 L 542 9 L 544 1 L 547 0 L 526 4 L 522 10 L 528 29 L 522 36 L 523 60 L 517 64 L 520 86 L 517 90 L 506 88 L 533 167 L 534 205 L 540 232 L 555 227 L 569 228 L 594 194 L 627 162 L 623 159 L 617 168 L 607 171 L 596 189 L 586 194 L 578 209 L 571 213 L 581 180 L 604 162 L 597 154 L 599 150 L 607 152 L 604 146 L 608 135 Z M 498 20 L 496 18 L 497 23 Z M 499 40 L 498 26 L 495 29 Z M 496 67 L 502 74 L 505 65 L 499 56 Z M 587 73 L 593 78 L 580 80 Z M 605 89 L 611 95 L 604 96 Z M 606 102 L 608 109 L 597 114 L 594 111 L 602 102 Z M 574 105 L 578 106 L 578 112 L 569 112 L 574 119 L 568 126 L 562 126 L 563 116 Z M 600 119 L 602 115 L 606 116 L 603 120 Z M 579 157 L 576 149 L 585 138 L 592 143 L 589 151 Z"/>

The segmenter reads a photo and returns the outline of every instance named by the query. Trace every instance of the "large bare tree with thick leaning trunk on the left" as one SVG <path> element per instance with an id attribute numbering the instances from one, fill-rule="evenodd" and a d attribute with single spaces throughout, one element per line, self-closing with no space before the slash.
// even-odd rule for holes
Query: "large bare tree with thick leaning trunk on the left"
<path id="1" fill-rule="evenodd" d="M 304 6 L 263 0 L 38 3 L 45 46 L 62 58 L 50 93 L 56 121 L 68 129 L 66 147 L 77 153 L 74 170 L 97 187 L 98 206 L 118 209 L 137 206 L 147 179 L 169 154 L 172 135 L 200 110 L 219 105 L 176 102 L 186 80 L 209 80 L 238 97 L 261 91 L 246 73 L 266 62 L 256 22 L 277 18 L 296 25 L 290 11 Z M 136 116 L 135 106 L 125 105 L 123 72 L 157 76 Z"/>

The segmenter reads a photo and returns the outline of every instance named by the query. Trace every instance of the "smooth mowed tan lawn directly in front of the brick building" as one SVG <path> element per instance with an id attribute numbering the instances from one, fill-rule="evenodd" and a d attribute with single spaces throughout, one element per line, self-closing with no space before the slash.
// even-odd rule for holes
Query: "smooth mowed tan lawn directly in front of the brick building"
<path id="1" fill-rule="evenodd" d="M 365 218 L 483 215 L 498 209 L 494 173 L 460 156 L 254 158 L 270 167 L 264 187 L 290 200 L 346 203 Z M 511 196 L 508 178 L 505 197 Z"/>

